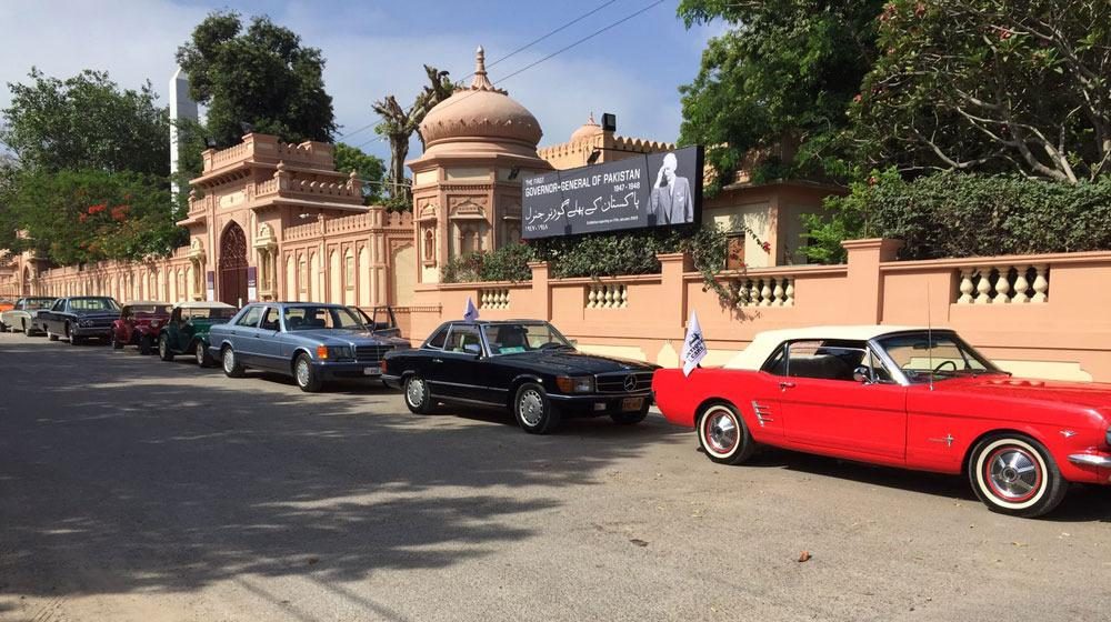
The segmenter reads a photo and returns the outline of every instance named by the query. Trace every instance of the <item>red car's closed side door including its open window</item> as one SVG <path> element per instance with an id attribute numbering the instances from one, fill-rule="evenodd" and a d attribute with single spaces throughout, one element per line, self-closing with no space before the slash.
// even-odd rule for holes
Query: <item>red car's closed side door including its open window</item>
<path id="1" fill-rule="evenodd" d="M 863 343 L 789 344 L 779 379 L 787 438 L 799 449 L 901 464 L 907 457 L 907 389 L 861 382 L 853 372 L 869 360 Z M 783 370 L 780 370 L 783 371 Z"/>

